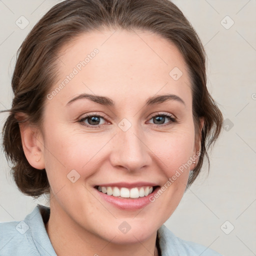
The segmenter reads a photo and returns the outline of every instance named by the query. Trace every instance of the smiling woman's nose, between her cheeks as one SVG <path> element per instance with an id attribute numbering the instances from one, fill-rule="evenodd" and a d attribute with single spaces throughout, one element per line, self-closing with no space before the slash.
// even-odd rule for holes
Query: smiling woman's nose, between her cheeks
<path id="1" fill-rule="evenodd" d="M 135 125 L 126 131 L 118 128 L 111 148 L 110 162 L 114 167 L 138 171 L 151 163 L 151 151 L 145 136 Z"/>

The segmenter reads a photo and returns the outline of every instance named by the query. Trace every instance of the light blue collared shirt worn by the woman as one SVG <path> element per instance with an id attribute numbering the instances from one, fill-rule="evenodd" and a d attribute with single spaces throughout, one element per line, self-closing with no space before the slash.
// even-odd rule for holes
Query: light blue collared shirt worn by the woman
<path id="1" fill-rule="evenodd" d="M 0 223 L 0 256 L 56 256 L 44 226 L 49 214 L 49 207 L 37 204 L 24 220 Z M 157 230 L 157 236 L 161 256 L 221 256 L 203 245 L 176 237 L 165 225 Z"/>

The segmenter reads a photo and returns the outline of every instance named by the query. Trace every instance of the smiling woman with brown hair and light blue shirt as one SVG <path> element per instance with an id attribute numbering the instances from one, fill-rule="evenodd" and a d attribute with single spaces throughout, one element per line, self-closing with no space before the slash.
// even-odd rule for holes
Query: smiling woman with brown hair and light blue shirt
<path id="1" fill-rule="evenodd" d="M 0 255 L 220 255 L 163 223 L 222 115 L 196 32 L 168 0 L 65 0 L 19 49 L 3 146 L 26 195 Z M 203 254 L 204 253 L 204 254 Z"/>

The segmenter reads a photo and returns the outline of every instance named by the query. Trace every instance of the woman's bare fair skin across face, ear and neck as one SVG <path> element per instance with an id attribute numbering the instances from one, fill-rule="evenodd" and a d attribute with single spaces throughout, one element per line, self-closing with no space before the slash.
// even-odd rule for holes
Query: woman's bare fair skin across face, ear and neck
<path id="1" fill-rule="evenodd" d="M 177 207 L 189 170 L 196 165 L 184 169 L 154 202 L 139 210 L 118 209 L 93 188 L 121 181 L 162 186 L 200 144 L 195 140 L 191 82 L 176 46 L 147 31 L 113 32 L 89 32 L 64 45 L 52 89 L 94 48 L 99 52 L 52 99 L 45 99 L 41 129 L 20 125 L 29 163 L 47 172 L 51 212 L 46 230 L 60 256 L 153 255 L 157 229 Z M 173 67 L 183 73 L 176 81 L 169 75 Z M 66 105 L 80 93 L 107 96 L 115 105 L 89 99 Z M 145 106 L 148 97 L 166 93 L 179 96 L 185 105 L 168 100 Z M 178 122 L 166 117 L 158 124 L 150 117 L 162 112 Z M 78 122 L 86 113 L 105 118 L 96 128 L 88 119 L 83 121 L 87 127 Z M 127 131 L 118 127 L 123 118 L 131 123 Z M 80 175 L 74 183 L 67 178 L 72 169 Z M 125 234 L 118 229 L 123 221 L 131 226 Z"/>

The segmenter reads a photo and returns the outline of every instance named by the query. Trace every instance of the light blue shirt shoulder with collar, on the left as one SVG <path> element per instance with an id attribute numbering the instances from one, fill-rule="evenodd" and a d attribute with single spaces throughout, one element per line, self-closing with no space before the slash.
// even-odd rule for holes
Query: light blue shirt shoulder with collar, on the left
<path id="1" fill-rule="evenodd" d="M 37 205 L 24 220 L 0 223 L 0 256 L 41 255 L 38 247 L 44 243 L 46 231 L 40 206 Z"/>

